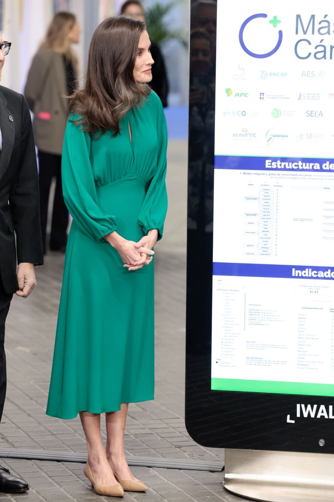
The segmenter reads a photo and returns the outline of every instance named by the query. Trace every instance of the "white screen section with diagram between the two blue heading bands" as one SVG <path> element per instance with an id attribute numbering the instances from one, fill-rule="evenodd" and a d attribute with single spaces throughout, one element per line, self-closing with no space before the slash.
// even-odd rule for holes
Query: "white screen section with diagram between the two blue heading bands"
<path id="1" fill-rule="evenodd" d="M 333 176 L 216 169 L 214 262 L 330 266 Z"/>

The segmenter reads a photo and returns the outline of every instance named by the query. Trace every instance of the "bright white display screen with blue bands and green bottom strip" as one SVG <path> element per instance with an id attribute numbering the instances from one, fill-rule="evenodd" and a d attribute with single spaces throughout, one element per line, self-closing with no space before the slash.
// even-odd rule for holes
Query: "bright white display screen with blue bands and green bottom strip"
<path id="1" fill-rule="evenodd" d="M 215 391 L 334 396 L 332 2 L 319 12 L 218 2 Z"/>

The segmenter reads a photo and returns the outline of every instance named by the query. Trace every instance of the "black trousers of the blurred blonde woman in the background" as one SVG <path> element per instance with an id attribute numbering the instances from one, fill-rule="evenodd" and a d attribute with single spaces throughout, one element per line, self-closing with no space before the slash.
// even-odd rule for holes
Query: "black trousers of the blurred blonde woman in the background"
<path id="1" fill-rule="evenodd" d="M 62 191 L 62 156 L 38 151 L 39 184 L 40 184 L 40 212 L 44 254 L 46 246 L 46 227 L 48 222 L 48 205 L 52 178 L 56 178 L 55 198 L 52 210 L 50 249 L 59 250 L 66 246 L 68 210 L 64 202 Z"/>

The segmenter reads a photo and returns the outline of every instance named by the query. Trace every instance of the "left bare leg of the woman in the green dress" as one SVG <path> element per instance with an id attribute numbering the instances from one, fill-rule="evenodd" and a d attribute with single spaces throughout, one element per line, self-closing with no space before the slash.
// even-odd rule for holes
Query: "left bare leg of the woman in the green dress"
<path id="1" fill-rule="evenodd" d="M 88 450 L 88 462 L 94 480 L 100 486 L 112 486 L 117 483 L 112 473 L 102 444 L 100 414 L 88 411 L 80 412 L 80 420 L 84 430 Z"/>

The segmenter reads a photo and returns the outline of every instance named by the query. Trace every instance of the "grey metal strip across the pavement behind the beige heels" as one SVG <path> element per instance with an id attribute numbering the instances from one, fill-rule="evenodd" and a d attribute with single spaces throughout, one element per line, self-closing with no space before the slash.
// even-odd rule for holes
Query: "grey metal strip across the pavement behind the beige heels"
<path id="1" fill-rule="evenodd" d="M 87 462 L 87 453 L 75 453 L 61 450 L 25 450 L 18 448 L 0 448 L 0 458 L 26 458 L 29 460 L 56 460 L 57 462 Z M 192 469 L 221 472 L 223 465 L 218 462 L 203 462 L 187 458 L 137 457 L 126 456 L 129 465 L 143 467 L 163 467 L 167 469 Z"/>

